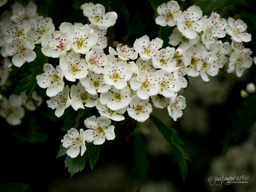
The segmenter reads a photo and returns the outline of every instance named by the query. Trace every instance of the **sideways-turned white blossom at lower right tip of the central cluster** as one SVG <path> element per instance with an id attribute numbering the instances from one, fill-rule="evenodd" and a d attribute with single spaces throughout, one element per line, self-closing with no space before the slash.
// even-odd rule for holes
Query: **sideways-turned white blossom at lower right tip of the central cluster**
<path id="1" fill-rule="evenodd" d="M 173 95 L 170 98 L 170 103 L 167 106 L 167 110 L 169 116 L 171 116 L 174 121 L 176 121 L 177 118 L 180 118 L 182 116 L 182 110 L 184 108 L 186 108 L 186 101 L 183 96 Z"/>

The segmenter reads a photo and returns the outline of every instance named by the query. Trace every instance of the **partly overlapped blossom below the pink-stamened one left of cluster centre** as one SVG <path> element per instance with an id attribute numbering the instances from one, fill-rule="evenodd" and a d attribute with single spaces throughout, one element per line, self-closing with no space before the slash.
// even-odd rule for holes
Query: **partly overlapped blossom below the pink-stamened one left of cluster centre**
<path id="1" fill-rule="evenodd" d="M 103 74 L 96 74 L 89 71 L 86 78 L 80 79 L 80 83 L 84 86 L 85 90 L 92 95 L 106 93 L 110 89 L 110 85 L 106 84 L 103 76 Z"/>

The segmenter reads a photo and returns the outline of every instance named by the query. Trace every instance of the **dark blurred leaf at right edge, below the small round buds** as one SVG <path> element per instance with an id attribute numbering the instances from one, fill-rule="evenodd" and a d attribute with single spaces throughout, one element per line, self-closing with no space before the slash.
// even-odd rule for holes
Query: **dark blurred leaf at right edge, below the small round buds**
<path id="1" fill-rule="evenodd" d="M 256 120 L 256 96 L 249 96 L 242 102 L 242 108 L 237 111 L 237 117 L 226 132 L 223 142 L 223 152 L 226 153 L 231 141 L 236 143 L 241 134 L 247 132 Z"/>

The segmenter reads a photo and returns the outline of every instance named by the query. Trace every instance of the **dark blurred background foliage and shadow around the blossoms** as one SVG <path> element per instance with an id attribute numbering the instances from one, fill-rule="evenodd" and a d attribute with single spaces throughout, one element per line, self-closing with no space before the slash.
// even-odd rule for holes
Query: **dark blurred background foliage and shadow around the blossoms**
<path id="1" fill-rule="evenodd" d="M 28 3 L 25 0 L 18 2 L 24 5 Z M 85 21 L 82 11 L 73 7 L 74 3 L 82 1 L 33 2 L 38 5 L 39 15 L 52 18 L 55 29 L 64 21 Z M 130 18 L 138 20 L 136 25 L 130 21 L 130 26 L 138 27 L 137 32 L 130 34 L 129 27 L 124 24 L 122 12 L 117 5 L 113 6 L 113 2 L 109 1 L 110 10 L 117 12 L 118 20 L 109 33 L 114 43 L 132 45 L 141 34 L 147 34 L 151 38 L 158 35 L 159 28 L 153 18 L 154 10 L 148 0 L 141 0 L 140 5 L 135 0 L 118 1 L 127 8 Z M 194 2 L 196 1 L 178 1 L 184 9 Z M 248 24 L 252 42 L 246 43 L 245 46 L 250 48 L 253 51 L 252 56 L 255 56 L 256 28 L 251 18 L 256 16 L 256 4 L 253 0 L 244 2 L 246 5 L 225 6 L 218 10 L 218 13 L 223 18 L 242 18 Z M 8 4 L 0 8 L 1 12 L 8 10 L 12 3 L 14 0 L 9 0 Z M 26 111 L 27 115 L 20 126 L 9 126 L 4 118 L 0 118 L 3 145 L 0 157 L 0 184 L 23 183 L 28 185 L 28 192 L 180 192 L 194 188 L 205 192 L 255 192 L 256 95 L 247 92 L 248 96 L 245 97 L 240 94 L 241 90 L 246 90 L 248 83 L 255 83 L 255 72 L 256 66 L 253 64 L 241 78 L 223 71 L 220 71 L 218 76 L 210 77 L 209 82 L 203 82 L 200 77 L 188 78 L 188 88 L 179 93 L 186 98 L 187 106 L 183 110 L 182 118 L 176 122 L 168 116 L 166 108 L 153 108 L 154 116 L 168 127 L 177 130 L 184 142 L 184 149 L 190 155 L 191 161 L 187 162 L 188 176 L 185 182 L 182 182 L 178 163 L 170 146 L 150 119 L 137 123 L 134 131 L 134 128 L 131 128 L 130 132 L 134 134 L 130 136 L 124 127 L 116 128 L 116 138 L 101 146 L 94 169 L 90 169 L 87 161 L 84 170 L 70 178 L 64 165 L 65 156 L 56 158 L 60 140 L 66 134 L 61 129 L 63 119 L 43 116 L 41 111 L 47 111 L 50 116 L 54 116 L 43 102 L 40 110 Z M 36 89 L 45 95 L 45 90 L 39 87 Z M 33 121 L 36 121 L 38 129 L 28 129 L 28 122 Z M 147 158 L 144 164 L 137 164 L 137 168 L 134 168 L 136 141 L 138 142 L 135 133 L 140 135 L 139 141 L 144 145 L 142 148 L 145 149 Z M 232 140 L 234 133 L 234 138 L 237 139 Z M 138 167 L 146 170 L 140 173 Z M 140 184 L 140 176 L 143 177 L 143 174 L 145 177 Z M 208 181 L 211 176 L 223 175 L 246 176 L 248 183 L 218 186 L 211 185 Z"/>

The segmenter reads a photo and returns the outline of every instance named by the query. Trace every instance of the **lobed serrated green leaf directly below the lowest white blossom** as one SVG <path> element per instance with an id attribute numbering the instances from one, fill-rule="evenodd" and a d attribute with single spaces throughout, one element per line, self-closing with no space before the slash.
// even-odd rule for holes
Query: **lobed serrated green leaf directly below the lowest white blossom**
<path id="1" fill-rule="evenodd" d="M 70 177 L 72 177 L 75 173 L 80 172 L 84 169 L 84 165 L 87 159 L 87 155 L 83 156 L 78 155 L 76 158 L 71 158 L 67 156 L 64 163 L 65 167 L 68 168 L 68 172 L 70 173 Z"/>

